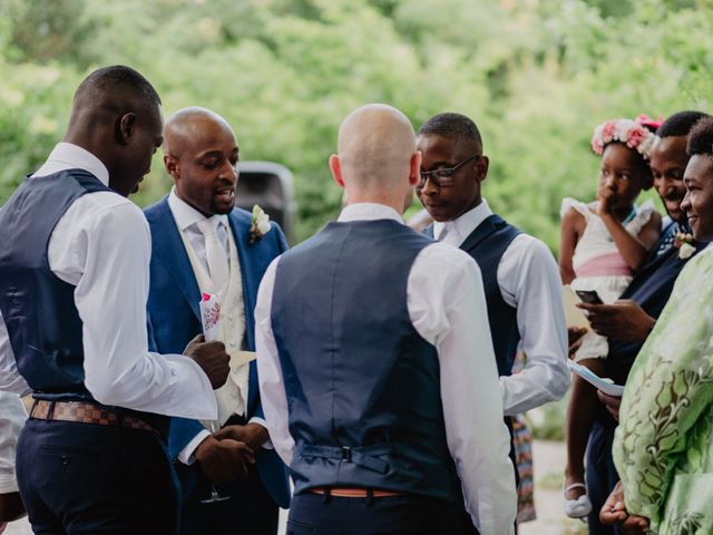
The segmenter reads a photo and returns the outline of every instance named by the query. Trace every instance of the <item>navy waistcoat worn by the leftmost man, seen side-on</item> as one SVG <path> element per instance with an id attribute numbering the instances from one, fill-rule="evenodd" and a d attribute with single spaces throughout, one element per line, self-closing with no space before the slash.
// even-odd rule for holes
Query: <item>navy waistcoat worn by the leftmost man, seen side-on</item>
<path id="1" fill-rule="evenodd" d="M 109 191 L 81 169 L 30 176 L 0 211 L 0 312 L 18 370 L 37 399 L 92 399 L 84 383 L 76 286 L 52 273 L 47 249 L 57 222 L 77 198 Z M 113 409 L 159 430 L 166 424 L 165 417 Z"/>

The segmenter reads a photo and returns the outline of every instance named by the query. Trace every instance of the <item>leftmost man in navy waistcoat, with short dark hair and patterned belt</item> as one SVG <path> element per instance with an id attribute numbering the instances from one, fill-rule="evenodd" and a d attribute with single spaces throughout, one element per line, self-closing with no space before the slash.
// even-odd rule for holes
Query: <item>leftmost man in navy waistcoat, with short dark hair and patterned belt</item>
<path id="1" fill-rule="evenodd" d="M 217 416 L 222 343 L 148 351 L 150 236 L 126 197 L 162 127 L 140 74 L 92 72 L 62 143 L 0 213 L 0 389 L 35 398 L 17 478 L 37 534 L 175 534 L 168 416 Z"/>

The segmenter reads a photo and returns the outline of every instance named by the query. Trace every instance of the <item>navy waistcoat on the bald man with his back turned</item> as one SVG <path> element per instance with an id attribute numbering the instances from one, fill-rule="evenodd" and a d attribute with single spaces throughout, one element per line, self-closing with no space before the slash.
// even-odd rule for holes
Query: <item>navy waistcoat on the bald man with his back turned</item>
<path id="1" fill-rule="evenodd" d="M 295 439 L 295 493 L 370 487 L 462 500 L 436 348 L 407 283 L 433 243 L 389 220 L 330 223 L 284 253 L 272 327 Z"/>

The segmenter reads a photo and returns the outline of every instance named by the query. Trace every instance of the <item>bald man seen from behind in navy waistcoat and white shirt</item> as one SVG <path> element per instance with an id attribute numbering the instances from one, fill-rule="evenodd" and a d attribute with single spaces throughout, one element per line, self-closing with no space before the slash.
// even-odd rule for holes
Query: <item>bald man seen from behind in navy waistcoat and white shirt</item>
<path id="1" fill-rule="evenodd" d="M 263 408 L 295 484 L 287 533 L 512 533 L 480 273 L 403 224 L 419 166 L 403 114 L 350 114 L 330 158 L 346 207 L 261 283 Z"/>

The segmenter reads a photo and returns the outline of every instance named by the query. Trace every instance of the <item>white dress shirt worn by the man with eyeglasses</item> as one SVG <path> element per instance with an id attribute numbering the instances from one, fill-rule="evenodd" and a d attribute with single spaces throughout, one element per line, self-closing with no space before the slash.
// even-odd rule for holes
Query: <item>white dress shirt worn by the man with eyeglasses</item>
<path id="1" fill-rule="evenodd" d="M 457 220 L 436 222 L 433 236 L 458 247 L 490 215 L 484 198 Z M 547 245 L 528 234 L 512 240 L 500 259 L 497 278 L 502 299 L 517 308 L 517 327 L 527 356 L 522 371 L 500 378 L 505 414 L 514 416 L 559 399 L 569 388 L 561 280 Z"/>

